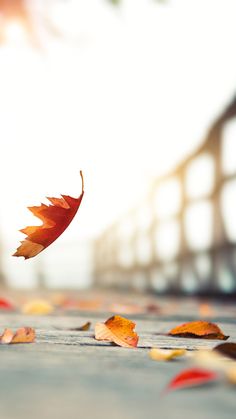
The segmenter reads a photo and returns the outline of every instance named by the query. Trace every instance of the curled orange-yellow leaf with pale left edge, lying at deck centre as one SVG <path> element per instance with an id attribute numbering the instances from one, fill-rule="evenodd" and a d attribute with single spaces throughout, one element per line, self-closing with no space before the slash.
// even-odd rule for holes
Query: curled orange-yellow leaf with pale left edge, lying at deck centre
<path id="1" fill-rule="evenodd" d="M 120 316 L 110 317 L 105 323 L 95 326 L 95 339 L 114 342 L 118 346 L 134 348 L 138 344 L 138 335 L 134 332 L 135 323 Z"/>

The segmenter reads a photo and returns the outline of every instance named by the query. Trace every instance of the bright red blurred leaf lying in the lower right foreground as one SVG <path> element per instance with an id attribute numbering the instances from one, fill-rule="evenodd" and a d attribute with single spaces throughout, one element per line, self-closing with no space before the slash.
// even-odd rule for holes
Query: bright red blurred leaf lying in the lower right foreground
<path id="1" fill-rule="evenodd" d="M 218 374 L 200 368 L 189 368 L 177 374 L 167 386 L 167 391 L 186 387 L 195 387 L 216 381 Z"/>

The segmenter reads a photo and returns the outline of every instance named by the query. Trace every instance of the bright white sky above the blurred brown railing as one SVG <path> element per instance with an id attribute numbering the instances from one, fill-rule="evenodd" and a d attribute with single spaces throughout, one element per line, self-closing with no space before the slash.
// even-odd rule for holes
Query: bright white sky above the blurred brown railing
<path id="1" fill-rule="evenodd" d="M 235 0 L 61 3 L 54 22 L 76 42 L 37 52 L 9 33 L 0 49 L 0 231 L 12 250 L 33 220 L 26 206 L 78 195 L 80 169 L 85 199 L 61 240 L 95 237 L 197 147 L 236 90 Z"/>

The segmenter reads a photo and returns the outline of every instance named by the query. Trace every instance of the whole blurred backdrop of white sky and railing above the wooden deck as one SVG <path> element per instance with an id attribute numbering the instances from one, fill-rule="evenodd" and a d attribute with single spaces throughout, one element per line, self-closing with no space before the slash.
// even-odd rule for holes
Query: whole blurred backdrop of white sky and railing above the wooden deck
<path id="1" fill-rule="evenodd" d="M 235 0 L 0 0 L 0 277 L 236 291 Z M 35 259 L 27 206 L 85 196 Z"/>

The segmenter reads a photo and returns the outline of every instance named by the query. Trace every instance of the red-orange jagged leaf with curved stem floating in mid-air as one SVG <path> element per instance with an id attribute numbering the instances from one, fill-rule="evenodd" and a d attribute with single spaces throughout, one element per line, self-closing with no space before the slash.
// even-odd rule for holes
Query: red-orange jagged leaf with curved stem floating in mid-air
<path id="1" fill-rule="evenodd" d="M 25 259 L 36 256 L 53 243 L 68 227 L 77 213 L 84 195 L 82 172 L 80 172 L 80 175 L 82 192 L 79 198 L 61 195 L 61 198 L 47 198 L 51 205 L 41 204 L 38 207 L 28 207 L 42 221 L 42 225 L 20 230 L 27 237 L 21 242 L 13 256 L 23 256 Z"/>

